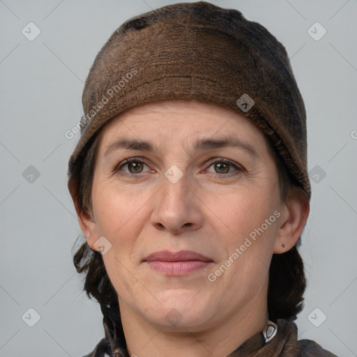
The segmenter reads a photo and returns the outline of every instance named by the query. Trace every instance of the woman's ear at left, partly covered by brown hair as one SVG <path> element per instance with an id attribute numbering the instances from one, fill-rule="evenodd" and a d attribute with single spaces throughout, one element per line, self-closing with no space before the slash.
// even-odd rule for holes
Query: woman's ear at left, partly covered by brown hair
<path id="1" fill-rule="evenodd" d="M 98 234 L 96 230 L 96 221 L 93 219 L 93 212 L 89 210 L 86 212 L 84 208 L 79 204 L 77 187 L 73 179 L 68 181 L 68 189 L 70 195 L 73 199 L 73 204 L 75 205 L 75 211 L 77 212 L 77 218 L 79 227 L 81 228 L 84 236 L 86 237 L 86 242 L 89 245 L 89 248 L 96 250 L 94 248 L 94 243 L 98 241 Z"/>

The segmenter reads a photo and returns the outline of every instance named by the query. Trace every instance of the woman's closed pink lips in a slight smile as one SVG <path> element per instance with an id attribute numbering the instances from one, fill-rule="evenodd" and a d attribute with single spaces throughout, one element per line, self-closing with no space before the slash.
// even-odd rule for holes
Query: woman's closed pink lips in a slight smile
<path id="1" fill-rule="evenodd" d="M 154 271 L 180 276 L 207 268 L 213 260 L 192 250 L 161 250 L 146 257 L 144 262 Z"/>

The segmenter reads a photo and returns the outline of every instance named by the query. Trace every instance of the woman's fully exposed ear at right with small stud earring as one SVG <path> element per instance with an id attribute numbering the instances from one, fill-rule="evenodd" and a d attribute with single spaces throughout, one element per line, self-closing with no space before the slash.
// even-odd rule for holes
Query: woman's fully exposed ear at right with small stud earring
<path id="1" fill-rule="evenodd" d="M 310 203 L 305 191 L 292 188 L 285 202 L 282 202 L 277 236 L 273 252 L 281 254 L 294 247 L 305 227 L 310 213 Z"/>

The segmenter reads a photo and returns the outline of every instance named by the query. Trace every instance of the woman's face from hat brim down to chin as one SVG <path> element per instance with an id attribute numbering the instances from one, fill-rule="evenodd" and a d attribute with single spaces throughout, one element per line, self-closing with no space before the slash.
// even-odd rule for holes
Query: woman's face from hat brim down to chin
<path id="1" fill-rule="evenodd" d="M 266 311 L 284 206 L 266 139 L 243 115 L 193 100 L 121 114 L 104 128 L 92 202 L 88 243 L 122 314 L 199 331 Z"/>

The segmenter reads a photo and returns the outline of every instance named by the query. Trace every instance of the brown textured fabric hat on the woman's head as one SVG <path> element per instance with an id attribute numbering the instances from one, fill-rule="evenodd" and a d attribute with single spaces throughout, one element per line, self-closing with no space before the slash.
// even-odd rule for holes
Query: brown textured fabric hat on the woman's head
<path id="1" fill-rule="evenodd" d="M 204 1 L 132 17 L 112 33 L 86 79 L 68 174 L 107 121 L 170 99 L 222 105 L 252 120 L 310 199 L 305 105 L 285 47 L 240 11 Z"/>

